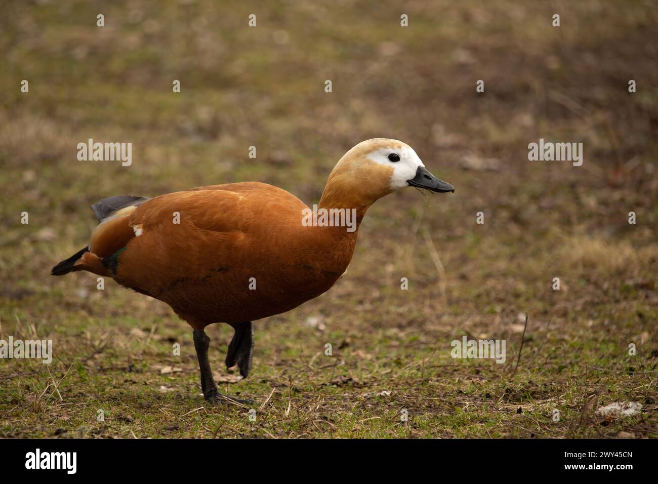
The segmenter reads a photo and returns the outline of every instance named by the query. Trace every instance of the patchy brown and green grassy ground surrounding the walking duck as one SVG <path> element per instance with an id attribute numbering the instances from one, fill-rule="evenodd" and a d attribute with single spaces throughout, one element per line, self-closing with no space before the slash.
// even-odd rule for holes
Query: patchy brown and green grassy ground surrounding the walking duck
<path id="1" fill-rule="evenodd" d="M 0 437 L 658 437 L 655 8 L 314 4 L 6 7 L 0 339 L 52 339 L 55 358 L 0 360 Z M 372 137 L 408 142 L 457 191 L 376 203 L 342 281 L 257 323 L 248 379 L 224 369 L 230 327 L 207 329 L 220 387 L 255 399 L 255 421 L 203 402 L 167 306 L 48 275 L 100 198 L 260 180 L 316 203 Z M 88 138 L 132 142 L 132 166 L 77 161 Z M 583 142 L 582 167 L 528 161 L 538 138 Z M 453 360 L 463 335 L 506 340 L 507 361 Z M 615 401 L 642 414 L 595 416 Z"/>

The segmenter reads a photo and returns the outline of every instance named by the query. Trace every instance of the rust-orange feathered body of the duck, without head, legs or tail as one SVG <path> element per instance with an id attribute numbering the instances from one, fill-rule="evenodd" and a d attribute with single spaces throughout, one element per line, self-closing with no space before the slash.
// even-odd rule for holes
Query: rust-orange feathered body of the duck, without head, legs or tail
<path id="1" fill-rule="evenodd" d="M 319 296 L 351 260 L 357 231 L 303 227 L 305 208 L 257 182 L 162 195 L 99 225 L 103 238 L 92 234 L 82 264 L 124 246 L 116 272 L 85 269 L 166 302 L 195 329 L 261 319 Z"/>

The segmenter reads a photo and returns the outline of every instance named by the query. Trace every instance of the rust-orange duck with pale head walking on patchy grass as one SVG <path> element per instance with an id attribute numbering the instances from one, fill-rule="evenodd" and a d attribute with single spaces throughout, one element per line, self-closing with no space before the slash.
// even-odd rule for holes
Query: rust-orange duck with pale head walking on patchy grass
<path id="1" fill-rule="evenodd" d="M 409 186 L 455 191 L 426 169 L 411 146 L 374 138 L 347 151 L 331 171 L 314 205 L 315 212 L 328 211 L 330 221 L 308 217 L 311 209 L 299 198 L 261 182 L 111 196 L 91 205 L 98 225 L 88 245 L 51 275 L 88 271 L 168 304 L 193 330 L 203 398 L 245 404 L 251 401 L 218 391 L 205 327 L 233 327 L 224 363 L 246 378 L 254 321 L 332 288 L 352 259 L 368 207 Z"/>

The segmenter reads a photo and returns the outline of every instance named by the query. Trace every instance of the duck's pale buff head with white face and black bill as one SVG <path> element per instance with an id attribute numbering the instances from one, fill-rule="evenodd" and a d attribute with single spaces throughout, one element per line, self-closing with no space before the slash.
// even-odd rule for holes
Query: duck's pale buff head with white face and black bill
<path id="1" fill-rule="evenodd" d="M 425 168 L 411 146 L 387 138 L 366 140 L 347 151 L 327 181 L 327 189 L 337 192 L 332 194 L 332 202 L 342 196 L 357 205 L 370 204 L 405 186 L 438 193 L 455 191 Z"/>

